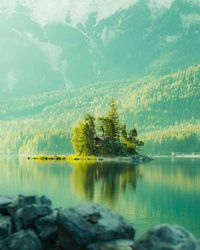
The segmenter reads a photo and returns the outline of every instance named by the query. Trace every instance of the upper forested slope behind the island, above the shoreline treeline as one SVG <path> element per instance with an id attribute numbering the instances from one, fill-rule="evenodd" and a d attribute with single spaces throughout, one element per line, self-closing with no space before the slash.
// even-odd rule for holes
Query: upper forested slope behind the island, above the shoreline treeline
<path id="1" fill-rule="evenodd" d="M 71 125 L 86 112 L 102 114 L 112 97 L 122 118 L 142 132 L 200 118 L 200 65 L 163 77 L 136 82 L 101 82 L 82 88 L 63 89 L 28 98 L 0 102 L 0 119 L 45 119 Z M 65 117 L 65 118 L 64 118 Z M 70 119 L 69 119 L 70 118 Z M 48 124 L 49 122 L 49 124 Z M 42 127 L 43 127 L 42 126 Z M 51 126 L 50 126 L 51 127 Z"/>

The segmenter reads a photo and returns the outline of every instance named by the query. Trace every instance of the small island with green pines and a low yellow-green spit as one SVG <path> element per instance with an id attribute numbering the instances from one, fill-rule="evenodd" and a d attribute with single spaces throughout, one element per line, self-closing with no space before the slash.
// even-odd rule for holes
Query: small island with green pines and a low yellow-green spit
<path id="1" fill-rule="evenodd" d="M 42 155 L 29 157 L 35 160 L 128 160 L 135 163 L 150 160 L 139 153 L 144 142 L 137 138 L 135 128 L 121 124 L 112 99 L 108 113 L 95 118 L 87 113 L 83 121 L 72 129 L 75 154 L 69 156 Z"/>

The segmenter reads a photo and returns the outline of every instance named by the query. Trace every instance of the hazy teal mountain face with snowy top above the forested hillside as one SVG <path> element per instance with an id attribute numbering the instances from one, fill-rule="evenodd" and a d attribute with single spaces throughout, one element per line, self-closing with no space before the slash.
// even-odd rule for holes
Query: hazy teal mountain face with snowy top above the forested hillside
<path id="1" fill-rule="evenodd" d="M 0 3 L 1 100 L 200 63 L 199 1 L 112 2 Z"/>

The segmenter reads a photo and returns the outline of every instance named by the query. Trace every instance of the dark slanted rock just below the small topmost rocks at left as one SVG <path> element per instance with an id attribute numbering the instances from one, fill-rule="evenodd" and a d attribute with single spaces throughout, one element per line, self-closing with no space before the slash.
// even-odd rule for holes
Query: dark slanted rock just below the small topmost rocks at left
<path id="1" fill-rule="evenodd" d="M 37 218 L 51 213 L 52 209 L 45 205 L 28 205 L 20 208 L 15 216 L 16 229 L 29 228 Z"/>

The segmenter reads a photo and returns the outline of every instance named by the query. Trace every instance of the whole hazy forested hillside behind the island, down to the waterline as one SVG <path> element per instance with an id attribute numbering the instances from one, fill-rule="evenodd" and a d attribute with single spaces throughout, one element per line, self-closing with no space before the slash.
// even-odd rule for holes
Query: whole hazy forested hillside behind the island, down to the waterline
<path id="1" fill-rule="evenodd" d="M 112 97 L 121 119 L 137 128 L 148 152 L 198 151 L 200 65 L 162 77 L 97 82 L 1 101 L 0 152 L 70 152 L 72 125 L 87 112 L 107 112 Z"/>

